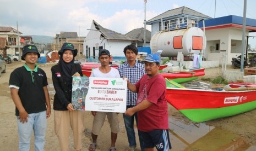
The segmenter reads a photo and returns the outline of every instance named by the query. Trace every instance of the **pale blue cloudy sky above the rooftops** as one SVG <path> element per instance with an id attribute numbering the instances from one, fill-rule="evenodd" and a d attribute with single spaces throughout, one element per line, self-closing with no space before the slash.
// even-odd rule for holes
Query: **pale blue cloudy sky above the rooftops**
<path id="1" fill-rule="evenodd" d="M 12 26 L 23 35 L 55 36 L 61 31 L 75 31 L 86 36 L 95 20 L 101 26 L 125 34 L 144 27 L 144 0 L 0 0 L 0 26 Z M 146 20 L 182 6 L 212 18 L 243 16 L 242 0 L 148 0 Z M 247 0 L 247 18 L 256 19 L 256 1 Z M 151 30 L 151 26 L 146 27 Z M 256 34 L 251 34 L 256 36 Z"/>

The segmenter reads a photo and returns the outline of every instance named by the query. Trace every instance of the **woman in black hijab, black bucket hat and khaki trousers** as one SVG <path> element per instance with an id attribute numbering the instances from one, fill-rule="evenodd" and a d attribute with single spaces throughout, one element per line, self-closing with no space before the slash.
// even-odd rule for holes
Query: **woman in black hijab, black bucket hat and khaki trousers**
<path id="1" fill-rule="evenodd" d="M 83 76 L 81 66 L 74 63 L 77 49 L 70 43 L 64 43 L 59 50 L 58 65 L 51 68 L 52 82 L 56 94 L 53 102 L 55 133 L 62 151 L 69 150 L 69 126 L 73 130 L 74 148 L 81 150 L 83 132 L 82 112 L 72 106 L 72 77 Z"/>

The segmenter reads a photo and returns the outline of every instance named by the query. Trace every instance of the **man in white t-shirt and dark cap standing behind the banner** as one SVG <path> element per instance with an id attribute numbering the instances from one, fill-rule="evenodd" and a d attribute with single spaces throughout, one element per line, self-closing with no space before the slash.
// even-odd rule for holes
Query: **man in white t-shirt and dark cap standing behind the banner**
<path id="1" fill-rule="evenodd" d="M 99 61 L 101 66 L 99 68 L 95 68 L 91 72 L 90 77 L 108 77 L 108 78 L 120 78 L 119 72 L 116 68 L 112 68 L 109 65 L 110 62 L 110 51 L 103 49 L 99 51 Z M 115 143 L 117 140 L 117 133 L 119 132 L 119 121 L 118 121 L 118 113 L 113 112 L 96 112 L 92 111 L 92 115 L 94 115 L 94 121 L 92 123 L 92 131 L 91 138 L 92 143 L 90 144 L 89 150 L 94 151 L 97 146 L 97 136 L 100 133 L 100 129 L 104 124 L 106 115 L 108 119 L 108 123 L 110 123 L 111 128 L 111 146 L 110 150 L 115 151 Z"/>

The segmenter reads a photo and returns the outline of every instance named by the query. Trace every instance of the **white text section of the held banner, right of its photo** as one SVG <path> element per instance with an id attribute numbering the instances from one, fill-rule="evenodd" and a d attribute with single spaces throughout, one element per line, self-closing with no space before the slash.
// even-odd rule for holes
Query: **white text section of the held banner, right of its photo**
<path id="1" fill-rule="evenodd" d="M 126 79 L 90 77 L 89 82 L 85 111 L 126 112 Z"/>

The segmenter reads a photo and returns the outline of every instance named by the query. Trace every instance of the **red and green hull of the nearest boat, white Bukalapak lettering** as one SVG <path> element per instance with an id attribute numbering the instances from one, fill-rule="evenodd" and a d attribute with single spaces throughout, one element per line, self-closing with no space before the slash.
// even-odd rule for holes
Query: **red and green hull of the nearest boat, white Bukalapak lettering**
<path id="1" fill-rule="evenodd" d="M 256 108 L 256 91 L 167 88 L 166 100 L 194 122 L 229 117 Z"/>

